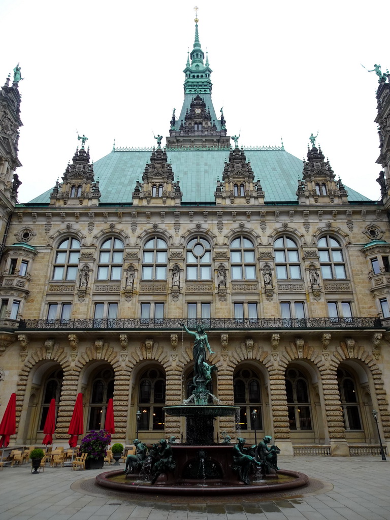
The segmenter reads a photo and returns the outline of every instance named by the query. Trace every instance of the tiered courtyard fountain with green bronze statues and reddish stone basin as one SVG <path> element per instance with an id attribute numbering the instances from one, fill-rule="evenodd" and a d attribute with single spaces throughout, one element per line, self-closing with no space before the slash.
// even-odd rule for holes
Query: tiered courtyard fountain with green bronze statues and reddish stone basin
<path id="1" fill-rule="evenodd" d="M 279 449 L 267 447 L 271 440 L 269 436 L 259 443 L 257 457 L 256 447 L 245 448 L 245 439 L 241 437 L 236 445 L 230 444 L 230 438 L 225 438 L 223 444 L 213 444 L 214 419 L 236 415 L 240 408 L 220 405 L 209 392 L 207 383 L 217 367 L 205 360 L 206 348 L 214 354 L 207 335 L 200 325 L 196 332 L 188 330 L 184 324 L 183 327 L 195 338 L 194 389 L 183 405 L 166 406 L 164 411 L 167 415 L 186 418 L 187 443 L 170 445 L 161 439 L 160 446 L 150 447 L 149 457 L 138 464 L 140 471 L 136 467 L 131 475 L 125 475 L 123 471 L 103 472 L 96 477 L 97 484 L 122 491 L 203 496 L 262 493 L 304 486 L 308 482 L 307 475 L 277 469 Z M 140 444 L 143 443 L 138 446 Z M 270 474 L 270 468 L 277 471 Z"/>

